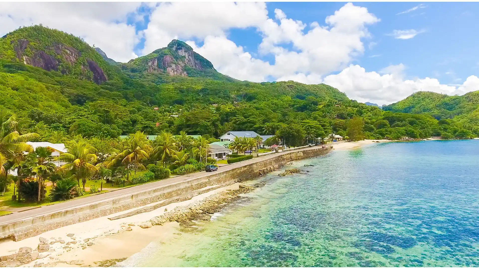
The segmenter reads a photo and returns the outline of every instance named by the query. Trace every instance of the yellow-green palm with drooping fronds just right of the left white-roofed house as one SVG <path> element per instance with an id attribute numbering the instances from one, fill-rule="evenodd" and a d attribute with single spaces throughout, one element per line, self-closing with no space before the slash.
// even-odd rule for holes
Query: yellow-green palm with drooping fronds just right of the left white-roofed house
<path id="1" fill-rule="evenodd" d="M 85 189 L 87 177 L 98 169 L 94 165 L 97 159 L 94 154 L 96 149 L 82 138 L 73 140 L 69 146 L 65 147 L 67 148 L 67 152 L 60 155 L 58 160 L 64 161 L 66 164 L 62 165 L 60 169 L 71 170 L 77 178 L 78 187 L 80 187 L 81 179 L 83 189 Z"/>

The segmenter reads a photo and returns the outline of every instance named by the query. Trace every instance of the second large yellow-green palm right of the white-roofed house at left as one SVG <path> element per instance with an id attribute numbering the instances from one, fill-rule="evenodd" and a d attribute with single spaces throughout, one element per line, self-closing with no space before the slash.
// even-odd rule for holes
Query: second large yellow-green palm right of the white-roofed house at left
<path id="1" fill-rule="evenodd" d="M 137 131 L 135 134 L 128 135 L 126 149 L 120 152 L 116 158 L 121 159 L 121 163 L 127 167 L 133 165 L 135 173 L 137 173 L 138 169 L 145 169 L 141 161 L 147 159 L 151 151 L 152 147 L 146 134 Z M 127 173 L 127 176 L 128 174 L 129 173 Z"/>

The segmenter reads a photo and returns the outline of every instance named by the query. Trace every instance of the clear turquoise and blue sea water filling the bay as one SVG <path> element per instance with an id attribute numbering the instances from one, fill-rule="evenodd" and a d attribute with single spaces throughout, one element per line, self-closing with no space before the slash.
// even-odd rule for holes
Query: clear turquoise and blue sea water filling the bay
<path id="1" fill-rule="evenodd" d="M 151 244 L 129 265 L 479 265 L 479 140 L 376 144 L 293 167 L 309 172 L 261 178 L 269 183 L 200 231 Z"/>

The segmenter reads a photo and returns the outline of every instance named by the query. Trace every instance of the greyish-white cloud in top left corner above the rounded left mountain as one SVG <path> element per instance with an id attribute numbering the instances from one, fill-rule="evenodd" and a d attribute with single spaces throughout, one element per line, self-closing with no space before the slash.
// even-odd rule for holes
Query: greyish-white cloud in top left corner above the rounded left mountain
<path id="1" fill-rule="evenodd" d="M 42 23 L 82 37 L 100 47 L 110 58 L 128 61 L 139 41 L 135 27 L 126 24 L 127 14 L 141 3 L 127 2 L 1 2 L 0 34 L 20 26 Z"/>

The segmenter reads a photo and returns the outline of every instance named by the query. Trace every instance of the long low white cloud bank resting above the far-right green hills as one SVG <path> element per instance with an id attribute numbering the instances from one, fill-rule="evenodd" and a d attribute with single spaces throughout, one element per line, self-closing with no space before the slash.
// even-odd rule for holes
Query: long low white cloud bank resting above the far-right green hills
<path id="1" fill-rule="evenodd" d="M 389 66 L 381 72 L 366 72 L 365 68 L 350 65 L 337 75 L 329 75 L 323 83 L 345 92 L 350 99 L 379 105 L 402 100 L 416 91 L 433 91 L 448 95 L 464 94 L 479 89 L 479 78 L 470 76 L 462 85 L 444 85 L 435 78 L 404 79 L 404 65 Z M 383 75 L 381 75 L 383 74 Z"/>

